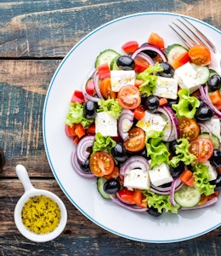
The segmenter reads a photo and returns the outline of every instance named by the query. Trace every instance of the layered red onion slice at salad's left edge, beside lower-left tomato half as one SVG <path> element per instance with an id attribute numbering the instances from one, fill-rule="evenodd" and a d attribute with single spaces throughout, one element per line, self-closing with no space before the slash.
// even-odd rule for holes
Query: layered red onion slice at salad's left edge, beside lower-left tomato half
<path id="1" fill-rule="evenodd" d="M 94 143 L 94 135 L 88 135 L 85 137 L 82 137 L 82 139 L 77 144 L 76 148 L 76 154 L 78 161 L 84 165 L 86 160 L 88 160 L 88 156 L 90 152 L 88 151 L 88 148 L 91 148 Z"/>

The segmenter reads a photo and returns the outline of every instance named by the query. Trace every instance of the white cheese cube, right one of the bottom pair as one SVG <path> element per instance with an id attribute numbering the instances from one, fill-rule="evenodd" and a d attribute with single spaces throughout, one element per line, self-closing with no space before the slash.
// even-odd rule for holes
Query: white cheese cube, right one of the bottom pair
<path id="1" fill-rule="evenodd" d="M 160 166 L 155 166 L 149 171 L 150 183 L 155 186 L 173 182 L 173 177 L 169 172 L 169 166 L 162 163 Z"/>

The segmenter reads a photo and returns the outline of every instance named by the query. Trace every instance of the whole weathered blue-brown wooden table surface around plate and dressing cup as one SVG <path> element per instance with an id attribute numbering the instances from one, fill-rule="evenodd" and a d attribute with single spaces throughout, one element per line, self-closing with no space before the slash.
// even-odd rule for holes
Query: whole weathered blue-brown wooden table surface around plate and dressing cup
<path id="1" fill-rule="evenodd" d="M 144 11 L 190 15 L 221 29 L 219 0 L 0 2 L 0 146 L 6 158 L 0 173 L 0 255 L 220 255 L 221 228 L 166 245 L 112 235 L 71 205 L 48 166 L 42 108 L 59 62 L 97 26 Z M 53 191 L 65 202 L 68 223 L 54 241 L 28 241 L 15 227 L 14 207 L 24 192 L 14 172 L 17 164 L 26 166 L 36 188 Z"/>

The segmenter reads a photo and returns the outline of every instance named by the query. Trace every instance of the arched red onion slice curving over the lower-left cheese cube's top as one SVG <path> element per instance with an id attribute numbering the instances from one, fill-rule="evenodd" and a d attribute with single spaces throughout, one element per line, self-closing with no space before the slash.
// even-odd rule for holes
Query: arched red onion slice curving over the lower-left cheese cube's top
<path id="1" fill-rule="evenodd" d="M 120 168 L 120 174 L 124 176 L 126 172 L 129 172 L 133 169 L 141 169 L 145 172 L 146 170 L 150 169 L 150 164 L 148 160 L 143 156 L 135 155 L 130 157 L 122 164 Z"/>

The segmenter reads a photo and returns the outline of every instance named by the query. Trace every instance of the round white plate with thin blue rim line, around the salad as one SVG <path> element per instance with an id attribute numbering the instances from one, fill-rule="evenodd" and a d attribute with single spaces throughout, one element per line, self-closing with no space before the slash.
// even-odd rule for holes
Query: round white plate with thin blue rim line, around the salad
<path id="1" fill-rule="evenodd" d="M 48 162 L 65 195 L 87 218 L 105 230 L 127 239 L 167 243 L 201 236 L 220 226 L 221 200 L 213 207 L 180 214 L 149 214 L 129 212 L 111 201 L 103 200 L 96 181 L 77 175 L 71 167 L 71 151 L 75 149 L 65 136 L 64 121 L 74 90 L 82 90 L 82 82 L 94 67 L 104 49 L 121 51 L 122 44 L 137 40 L 146 42 L 150 32 L 157 32 L 166 44 L 181 43 L 169 28 L 178 15 L 170 13 L 139 13 L 112 20 L 90 32 L 76 44 L 60 63 L 48 88 L 43 108 L 43 138 Z M 187 17 L 221 50 L 218 29 Z"/>

